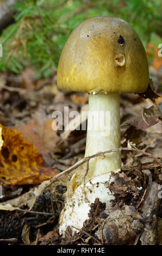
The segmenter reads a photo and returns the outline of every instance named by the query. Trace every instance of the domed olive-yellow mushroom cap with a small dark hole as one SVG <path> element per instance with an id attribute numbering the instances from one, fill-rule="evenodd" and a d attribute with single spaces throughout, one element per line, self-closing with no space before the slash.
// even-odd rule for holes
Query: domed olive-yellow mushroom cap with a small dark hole
<path id="1" fill-rule="evenodd" d="M 60 56 L 58 87 L 76 92 L 142 93 L 148 87 L 145 48 L 126 22 L 99 16 L 83 21 Z"/>

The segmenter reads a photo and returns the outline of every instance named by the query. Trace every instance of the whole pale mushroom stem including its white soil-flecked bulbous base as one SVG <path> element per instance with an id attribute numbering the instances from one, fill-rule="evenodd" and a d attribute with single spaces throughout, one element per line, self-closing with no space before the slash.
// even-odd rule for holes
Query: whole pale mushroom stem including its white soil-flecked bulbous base
<path id="1" fill-rule="evenodd" d="M 100 151 L 120 147 L 120 104 L 119 94 L 90 94 L 88 132 L 86 139 L 85 156 L 96 154 Z M 114 199 L 105 182 L 113 181 L 111 172 L 119 172 L 121 168 L 121 152 L 116 151 L 106 156 L 96 157 L 89 161 L 89 170 L 86 183 L 77 185 L 73 196 L 67 202 L 60 214 L 60 234 L 65 234 L 68 225 L 82 229 L 83 223 L 89 218 L 91 203 L 96 198 L 106 205 Z M 72 177 L 72 182 L 76 181 Z M 77 229 L 72 228 L 72 234 Z"/>

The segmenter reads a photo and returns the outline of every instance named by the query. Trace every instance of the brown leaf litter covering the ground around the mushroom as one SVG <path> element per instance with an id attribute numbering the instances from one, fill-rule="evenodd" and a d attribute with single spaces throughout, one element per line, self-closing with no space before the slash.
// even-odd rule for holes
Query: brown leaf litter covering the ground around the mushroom
<path id="1" fill-rule="evenodd" d="M 63 239 L 58 233 L 58 218 L 64 206 L 67 183 L 76 169 L 66 175 L 64 171 L 84 158 L 86 131 L 53 131 L 52 112 L 60 111 L 64 117 L 67 114 L 64 107 L 68 106 L 71 111 L 80 113 L 87 108 L 88 95 L 60 92 L 55 75 L 46 80 L 29 80 L 29 77 L 32 77 L 30 70 L 27 75 L 23 74 L 23 78 L 0 76 L 3 139 L 0 151 L 1 239 L 18 239 L 17 244 L 29 245 L 144 243 L 142 232 L 146 221 L 142 211 L 149 190 L 148 176 L 151 175 L 152 182 L 158 185 L 162 182 L 159 91 L 153 93 L 150 82 L 149 92 L 145 95 L 121 95 L 122 147 L 140 151 L 122 150 L 121 172 L 112 174 L 114 183 L 105 184 L 115 194 L 111 207 L 105 208 L 96 199 L 83 229 L 71 237 L 69 227 Z M 68 121 L 73 120 L 66 120 L 63 129 Z M 154 159 L 147 154 L 152 154 Z M 78 169 L 84 171 L 82 165 Z M 61 173 L 62 181 L 51 184 L 55 174 Z M 114 220 L 111 220 L 112 215 Z M 157 216 L 158 223 L 161 223 L 161 205 Z M 10 220 L 15 228 L 11 227 Z M 160 231 L 155 243 L 160 243 L 159 237 Z"/>

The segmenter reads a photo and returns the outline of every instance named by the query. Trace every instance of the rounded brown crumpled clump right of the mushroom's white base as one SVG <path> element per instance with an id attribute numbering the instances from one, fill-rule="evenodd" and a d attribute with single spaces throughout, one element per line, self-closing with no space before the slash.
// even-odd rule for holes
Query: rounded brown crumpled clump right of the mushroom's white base
<path id="1" fill-rule="evenodd" d="M 124 209 L 107 208 L 96 231 L 98 239 L 105 245 L 131 245 L 138 233 L 144 229 L 140 222 L 140 214 L 132 205 L 124 205 Z"/>

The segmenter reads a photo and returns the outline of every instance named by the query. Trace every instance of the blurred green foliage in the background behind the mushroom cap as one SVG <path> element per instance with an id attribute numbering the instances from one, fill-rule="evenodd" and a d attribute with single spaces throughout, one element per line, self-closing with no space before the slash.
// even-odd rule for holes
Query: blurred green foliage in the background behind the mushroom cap
<path id="1" fill-rule="evenodd" d="M 0 70 L 17 74 L 31 67 L 38 77 L 50 76 L 57 70 L 68 35 L 92 16 L 121 17 L 135 28 L 145 46 L 152 33 L 161 33 L 160 0 L 27 0 L 16 2 L 14 8 L 16 22 L 0 37 Z"/>

